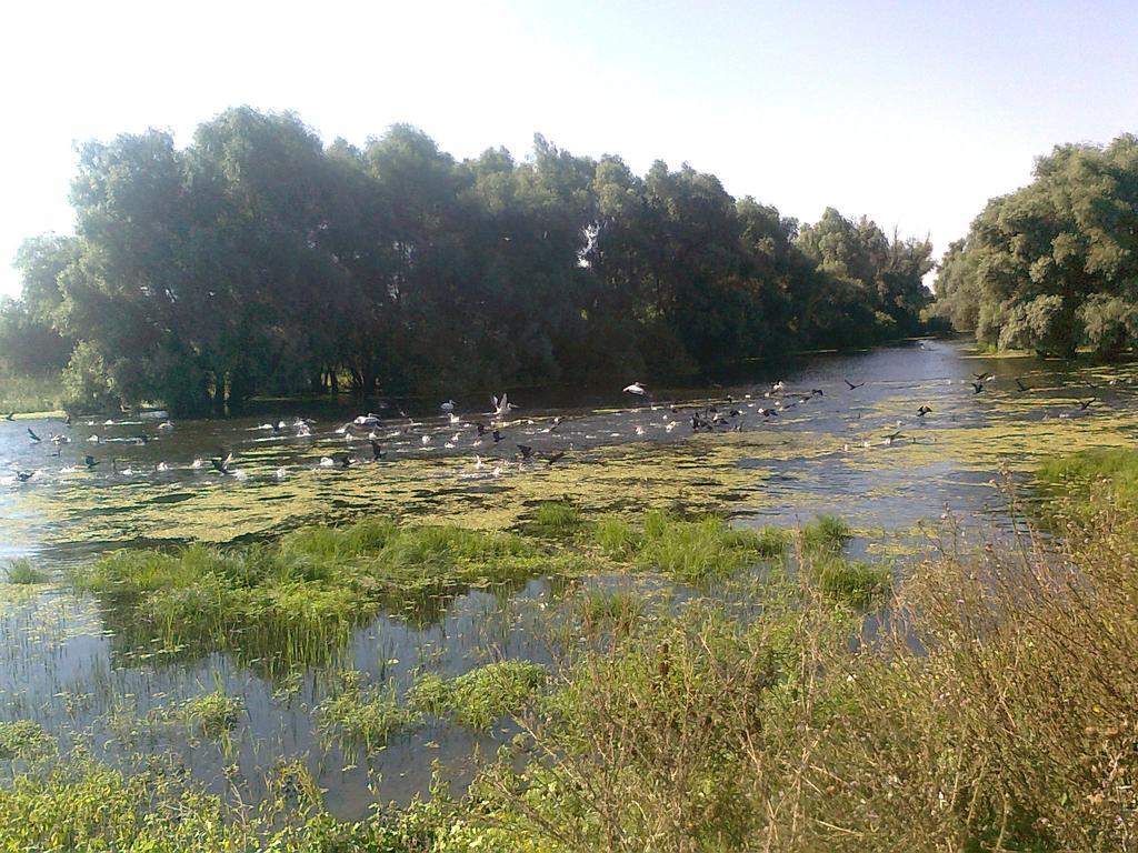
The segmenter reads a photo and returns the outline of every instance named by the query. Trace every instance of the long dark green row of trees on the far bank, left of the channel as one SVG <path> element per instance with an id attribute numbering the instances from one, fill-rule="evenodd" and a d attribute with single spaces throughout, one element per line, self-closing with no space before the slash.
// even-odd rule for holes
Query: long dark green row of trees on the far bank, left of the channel
<path id="1" fill-rule="evenodd" d="M 88 142 L 71 198 L 75 235 L 18 255 L 0 358 L 61 372 L 76 411 L 707 371 L 913 334 L 931 299 L 927 240 L 539 135 L 523 162 L 457 160 L 406 125 L 324 146 L 237 108 L 183 149 Z"/>

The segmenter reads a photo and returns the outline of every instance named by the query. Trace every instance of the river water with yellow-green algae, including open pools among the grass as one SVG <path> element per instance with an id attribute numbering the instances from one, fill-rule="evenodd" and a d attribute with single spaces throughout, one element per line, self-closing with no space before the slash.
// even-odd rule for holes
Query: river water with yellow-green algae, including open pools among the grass
<path id="1" fill-rule="evenodd" d="M 974 392 L 976 374 L 989 373 L 995 380 Z M 721 388 L 650 389 L 652 399 L 643 400 L 620 392 L 634 379 L 599 392 L 514 392 L 519 408 L 500 442 L 485 414 L 489 395 L 459 399 L 459 423 L 435 403 L 372 401 L 362 408 L 382 416 L 374 429 L 387 454 L 381 461 L 372 461 L 370 429 L 353 430 L 355 439 L 338 431 L 358 407 L 264 404 L 249 417 L 179 421 L 173 429 L 162 426 L 162 413 L 82 417 L 69 428 L 59 420 L 0 422 L 0 557 L 63 570 L 113 547 L 228 543 L 361 514 L 509 528 L 536 502 L 561 495 L 588 512 L 726 507 L 743 525 L 836 513 L 872 557 L 920 544 L 946 508 L 986 529 L 1006 525 L 1006 502 L 993 486 L 1003 469 L 1022 479 L 1040 457 L 1132 444 L 1138 432 L 1138 373 L 1130 366 L 978 358 L 955 342 L 818 356 L 777 376 L 757 367 Z M 1016 379 L 1030 390 L 1020 391 Z M 777 380 L 784 391 L 764 397 Z M 759 414 L 776 403 L 777 415 Z M 727 414 L 732 429 L 693 434 L 692 411 L 708 405 Z M 921 405 L 932 412 L 917 416 Z M 564 419 L 555 429 L 554 416 Z M 314 419 L 311 434 L 297 434 L 297 417 Z M 265 428 L 279 421 L 283 429 Z M 484 437 L 478 421 L 489 425 Z M 32 442 L 27 429 L 42 440 Z M 52 442 L 53 434 L 69 441 Z M 526 461 L 519 445 L 564 456 L 552 465 Z M 215 471 L 211 458 L 230 450 L 229 473 Z M 88 454 L 98 463 L 91 469 Z M 358 462 L 339 466 L 344 454 Z M 321 464 L 325 457 L 332 467 Z M 32 477 L 22 481 L 19 472 Z M 402 690 L 424 669 L 452 676 L 503 657 L 547 662 L 541 628 L 561 594 L 536 579 L 509 594 L 469 590 L 424 619 L 382 614 L 355 631 L 340 665 Z M 99 754 L 127 765 L 139 753 L 166 753 L 218 790 L 228 764 L 238 765 L 255 796 L 264 770 L 298 756 L 329 789 L 333 811 L 358 817 L 374 801 L 372 788 L 380 800 L 405 802 L 426 789 L 435 759 L 461 781 L 478 750 L 492 752 L 512 734 L 508 726 L 475 735 L 430 721 L 370 757 L 327 748 L 312 714 L 330 689 L 327 668 L 283 682 L 228 654 L 133 647 L 116 633 L 107 605 L 63 587 L 0 587 L 0 595 L 8 597 L 0 610 L 0 718 L 40 720 L 65 740 L 83 732 Z M 138 722 L 212 691 L 218 678 L 246 706 L 230 748 L 201 743 L 184 727 Z"/>

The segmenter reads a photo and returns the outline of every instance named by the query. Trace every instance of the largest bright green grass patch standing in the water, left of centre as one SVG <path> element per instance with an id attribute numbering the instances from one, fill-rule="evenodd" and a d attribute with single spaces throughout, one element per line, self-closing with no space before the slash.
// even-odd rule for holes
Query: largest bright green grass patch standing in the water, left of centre
<path id="1" fill-rule="evenodd" d="M 303 529 L 278 545 L 172 553 L 123 550 L 76 570 L 77 589 L 106 598 L 124 653 L 151 640 L 178 655 L 229 649 L 271 673 L 332 663 L 380 608 L 436 619 L 444 596 L 582 570 L 580 555 L 549 555 L 505 532 L 364 520 Z"/>

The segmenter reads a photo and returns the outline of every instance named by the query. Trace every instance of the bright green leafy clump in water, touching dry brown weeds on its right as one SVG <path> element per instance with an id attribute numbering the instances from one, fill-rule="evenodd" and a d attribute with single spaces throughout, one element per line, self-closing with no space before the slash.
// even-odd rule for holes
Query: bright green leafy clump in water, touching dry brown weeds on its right
<path id="1" fill-rule="evenodd" d="M 444 680 L 426 673 L 417 679 L 409 702 L 434 717 L 452 717 L 460 726 L 488 729 L 508 714 L 518 714 L 545 687 L 544 666 L 528 661 L 497 661 Z"/>

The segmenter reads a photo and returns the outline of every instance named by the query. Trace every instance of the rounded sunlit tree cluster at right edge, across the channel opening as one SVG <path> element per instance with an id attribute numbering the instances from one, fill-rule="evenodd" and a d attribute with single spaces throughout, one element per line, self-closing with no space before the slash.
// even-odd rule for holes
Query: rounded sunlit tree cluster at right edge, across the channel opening
<path id="1" fill-rule="evenodd" d="M 934 312 L 1000 349 L 1114 357 L 1138 340 L 1138 138 L 1057 147 L 954 242 Z"/>

